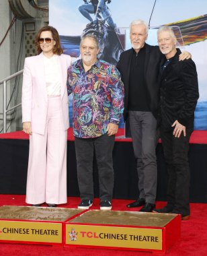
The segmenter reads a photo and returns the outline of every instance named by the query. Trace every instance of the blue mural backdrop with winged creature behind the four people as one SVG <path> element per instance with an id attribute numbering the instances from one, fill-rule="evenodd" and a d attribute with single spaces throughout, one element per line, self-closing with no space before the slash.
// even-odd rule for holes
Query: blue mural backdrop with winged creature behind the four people
<path id="1" fill-rule="evenodd" d="M 196 63 L 200 98 L 196 106 L 194 129 L 207 130 L 207 10 L 206 0 L 99 0 L 95 13 L 90 1 L 50 0 L 50 25 L 61 39 L 65 53 L 79 57 L 82 34 L 93 32 L 99 36 L 101 59 L 116 64 L 122 51 L 130 48 L 128 26 L 132 20 L 149 23 L 148 43 L 157 45 L 156 28 L 165 24 L 175 28 L 177 46 L 189 51 Z M 103 6 L 103 4 L 105 6 Z M 155 7 L 153 9 L 153 6 Z M 185 10 L 185 11 L 184 11 Z M 110 19 L 109 19 L 110 17 Z M 91 22 L 92 21 L 92 22 Z M 70 96 L 70 102 L 71 96 Z M 72 125 L 72 106 L 69 106 Z M 120 123 L 124 127 L 124 122 Z"/>

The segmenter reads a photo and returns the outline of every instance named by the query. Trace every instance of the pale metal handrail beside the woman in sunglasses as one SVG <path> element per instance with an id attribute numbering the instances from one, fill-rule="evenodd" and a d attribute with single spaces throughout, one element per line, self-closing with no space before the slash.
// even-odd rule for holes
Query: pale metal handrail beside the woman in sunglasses
<path id="1" fill-rule="evenodd" d="M 12 78 L 17 77 L 18 75 L 21 75 L 22 73 L 23 73 L 23 69 L 0 81 L 0 86 L 1 84 L 3 84 L 3 133 L 7 132 L 7 113 L 17 108 L 18 106 L 22 105 L 22 103 L 19 103 L 15 106 L 12 106 L 11 108 L 7 108 L 7 82 Z"/>

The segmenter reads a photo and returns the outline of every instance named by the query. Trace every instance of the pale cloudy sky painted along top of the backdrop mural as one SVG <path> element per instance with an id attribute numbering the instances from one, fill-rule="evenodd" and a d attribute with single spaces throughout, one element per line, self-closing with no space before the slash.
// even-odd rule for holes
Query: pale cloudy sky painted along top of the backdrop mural
<path id="1" fill-rule="evenodd" d="M 87 19 L 78 10 L 83 3 L 83 0 L 50 0 L 50 25 L 58 26 L 60 34 L 67 33 L 65 36 L 81 34 L 87 24 Z M 130 21 L 137 18 L 149 22 L 154 3 L 155 0 L 112 0 L 108 6 L 117 26 L 128 27 Z M 206 0 L 157 0 L 151 26 L 194 18 L 205 12 Z"/>

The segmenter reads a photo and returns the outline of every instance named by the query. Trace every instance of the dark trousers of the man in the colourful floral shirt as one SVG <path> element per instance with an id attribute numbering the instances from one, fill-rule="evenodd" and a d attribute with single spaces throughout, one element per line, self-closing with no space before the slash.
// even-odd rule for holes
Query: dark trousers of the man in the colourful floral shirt
<path id="1" fill-rule="evenodd" d="M 112 199 L 114 188 L 114 168 L 112 151 L 114 135 L 82 139 L 75 137 L 77 177 L 81 199 L 93 200 L 93 152 L 99 173 L 99 197 L 101 200 Z"/>

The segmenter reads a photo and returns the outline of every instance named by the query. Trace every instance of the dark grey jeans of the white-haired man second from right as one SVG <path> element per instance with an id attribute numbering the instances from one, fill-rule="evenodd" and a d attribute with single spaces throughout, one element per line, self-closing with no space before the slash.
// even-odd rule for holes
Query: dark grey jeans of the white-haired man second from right
<path id="1" fill-rule="evenodd" d="M 129 111 L 130 131 L 136 170 L 139 198 L 155 203 L 157 192 L 157 120 L 151 112 Z"/>

